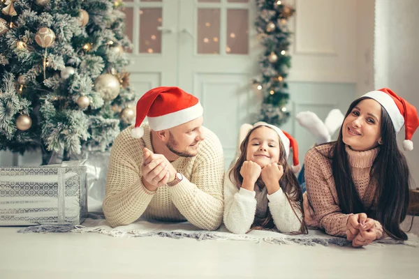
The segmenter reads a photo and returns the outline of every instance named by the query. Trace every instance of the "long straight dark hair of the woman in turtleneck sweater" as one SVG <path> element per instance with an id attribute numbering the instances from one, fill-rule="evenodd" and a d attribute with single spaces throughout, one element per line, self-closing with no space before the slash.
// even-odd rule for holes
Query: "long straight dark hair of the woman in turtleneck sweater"
<path id="1" fill-rule="evenodd" d="M 346 117 L 353 107 L 365 98 L 359 98 L 349 106 Z M 394 239 L 406 240 L 407 235 L 400 229 L 400 223 L 406 218 L 409 205 L 410 172 L 406 158 L 399 151 L 395 128 L 387 111 L 381 107 L 381 139 L 378 154 L 370 172 L 370 183 L 376 183 L 374 210 L 367 209 L 355 188 L 351 165 L 342 140 L 342 126 L 329 158 L 332 160 L 332 174 L 335 179 L 339 207 L 343 213 L 367 213 L 369 218 L 378 220 L 384 231 Z"/>

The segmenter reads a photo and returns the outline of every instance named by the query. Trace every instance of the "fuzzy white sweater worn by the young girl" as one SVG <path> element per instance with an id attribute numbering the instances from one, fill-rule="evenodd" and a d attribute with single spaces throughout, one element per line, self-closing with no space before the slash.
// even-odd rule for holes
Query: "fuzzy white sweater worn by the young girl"
<path id="1" fill-rule="evenodd" d="M 224 178 L 224 225 L 230 232 L 245 234 L 251 228 L 255 217 L 263 218 L 268 210 L 279 232 L 298 232 L 301 228 L 302 214 L 297 207 L 293 207 L 281 188 L 269 195 L 266 187 L 260 190 L 255 186 L 254 191 L 237 188 L 228 177 Z M 233 174 L 231 174 L 233 177 Z"/>

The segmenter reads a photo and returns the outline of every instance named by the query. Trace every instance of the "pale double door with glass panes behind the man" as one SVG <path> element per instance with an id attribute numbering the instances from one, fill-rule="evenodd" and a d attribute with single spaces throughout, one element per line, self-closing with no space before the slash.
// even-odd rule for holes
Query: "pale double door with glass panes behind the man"
<path id="1" fill-rule="evenodd" d="M 227 165 L 233 160 L 240 125 L 250 121 L 258 103 L 249 86 L 257 71 L 256 50 L 252 50 L 255 4 L 241 2 L 132 4 L 134 49 L 128 71 L 137 97 L 156 86 L 179 86 L 197 96 L 204 107 L 204 126 L 221 140 Z"/>

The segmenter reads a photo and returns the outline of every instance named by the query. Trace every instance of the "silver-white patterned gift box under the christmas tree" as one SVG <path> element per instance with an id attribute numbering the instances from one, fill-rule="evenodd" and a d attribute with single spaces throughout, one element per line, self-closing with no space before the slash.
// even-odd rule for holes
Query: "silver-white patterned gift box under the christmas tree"
<path id="1" fill-rule="evenodd" d="M 87 216 L 81 161 L 0 167 L 0 225 L 77 225 Z"/>

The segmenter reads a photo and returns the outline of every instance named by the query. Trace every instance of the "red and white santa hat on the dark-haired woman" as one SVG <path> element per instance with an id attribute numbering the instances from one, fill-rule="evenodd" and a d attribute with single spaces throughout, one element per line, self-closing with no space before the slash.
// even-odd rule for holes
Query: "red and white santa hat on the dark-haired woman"
<path id="1" fill-rule="evenodd" d="M 388 88 L 378 89 L 363 95 L 376 100 L 387 111 L 396 134 L 404 126 L 405 137 L 403 141 L 403 149 L 406 151 L 413 150 L 413 142 L 411 141 L 413 133 L 419 126 L 418 112 L 416 107 L 407 103 L 404 98 L 397 96 L 396 93 Z M 362 98 L 361 97 L 361 98 Z"/>

